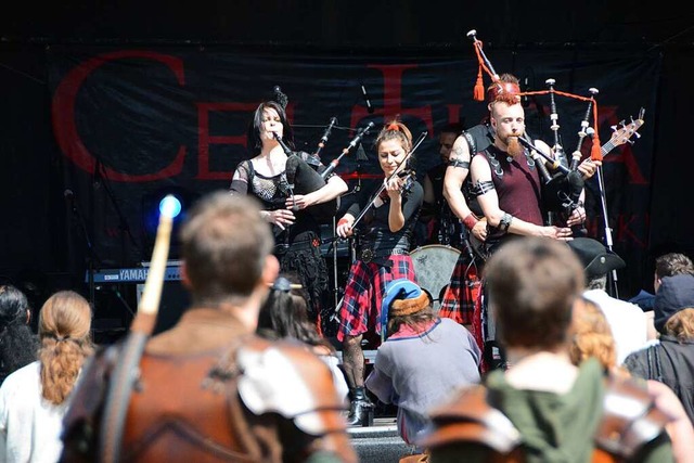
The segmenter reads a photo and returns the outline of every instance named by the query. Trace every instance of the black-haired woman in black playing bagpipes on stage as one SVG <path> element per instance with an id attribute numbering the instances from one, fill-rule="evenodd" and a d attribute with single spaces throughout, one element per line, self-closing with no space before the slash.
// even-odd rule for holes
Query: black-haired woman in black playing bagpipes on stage
<path id="1" fill-rule="evenodd" d="M 295 194 L 308 190 L 300 183 L 313 180 L 309 173 L 318 176 L 307 169 L 320 171 L 325 167 L 308 153 L 286 153 L 278 138 L 294 149 L 294 134 L 284 106 L 275 101 L 260 103 L 247 132 L 247 146 L 253 157 L 236 166 L 230 190 L 232 194 L 249 194 L 260 200 L 264 206 L 260 214 L 272 224 L 274 254 L 280 260 L 281 270 L 295 273 L 301 280 L 309 299 L 309 316 L 322 333 L 324 326 L 321 321 L 326 322 L 327 319 L 321 317 L 321 310 L 322 301 L 330 296 L 329 273 L 320 248 L 320 222 L 312 210 L 338 197 L 348 187 L 343 179 L 333 175 L 321 182 L 321 188 L 310 193 Z M 306 175 L 290 172 L 290 156 L 298 156 L 299 168 Z"/>

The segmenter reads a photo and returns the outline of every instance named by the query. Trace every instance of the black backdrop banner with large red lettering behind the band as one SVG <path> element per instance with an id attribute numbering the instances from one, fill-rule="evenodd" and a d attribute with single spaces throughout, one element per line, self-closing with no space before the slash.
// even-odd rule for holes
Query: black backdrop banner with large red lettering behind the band
<path id="1" fill-rule="evenodd" d="M 472 48 L 472 47 L 471 47 Z M 555 79 L 563 92 L 589 97 L 597 88 L 599 136 L 604 145 L 611 126 L 630 121 L 641 107 L 646 118 L 641 138 L 617 145 L 605 157 L 608 228 L 599 190 L 588 183 L 590 234 L 609 234 L 628 262 L 642 261 L 647 248 L 653 121 L 660 57 L 602 51 L 487 51 L 497 72 L 522 79 L 523 90 L 545 90 Z M 131 267 L 149 260 L 152 217 L 158 197 L 180 192 L 189 202 L 227 189 L 236 164 L 246 157 L 245 131 L 259 102 L 280 86 L 297 145 L 314 152 L 332 117 L 337 125 L 321 158 L 339 156 L 356 130 L 376 124 L 363 140 L 368 160 L 356 150 L 340 159 L 336 172 L 355 183 L 378 172 L 373 139 L 384 123 L 398 117 L 416 138 L 417 173 L 438 162 L 437 131 L 447 123 L 477 124 L 486 105 L 472 99 L 477 63 L 451 53 L 397 56 L 354 53 L 273 51 L 240 53 L 215 48 L 114 49 L 54 47 L 48 54 L 54 137 L 63 157 L 65 188 L 74 192 L 90 237 L 91 250 L 73 240 L 74 253 L 87 253 L 94 267 Z M 489 83 L 485 76 L 485 85 Z M 362 92 L 362 86 L 367 95 Z M 372 112 L 367 105 L 367 98 Z M 562 144 L 578 142 L 584 101 L 557 95 Z M 553 144 L 548 95 L 531 97 L 528 131 Z M 592 125 L 592 123 L 591 123 Z M 590 143 L 582 145 L 583 156 Z M 345 202 L 343 202 L 345 204 Z M 176 247 L 172 248 L 176 253 Z M 643 269 L 626 279 L 639 286 Z M 621 282 L 626 293 L 635 293 Z"/>

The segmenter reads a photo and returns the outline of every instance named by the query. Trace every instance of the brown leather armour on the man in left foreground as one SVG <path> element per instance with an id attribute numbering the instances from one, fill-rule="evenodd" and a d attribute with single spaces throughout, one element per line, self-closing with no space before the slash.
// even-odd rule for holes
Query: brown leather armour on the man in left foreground
<path id="1" fill-rule="evenodd" d="M 65 417 L 63 462 L 93 462 L 120 345 L 86 366 Z M 256 336 L 202 353 L 150 355 L 128 407 L 123 461 L 281 462 L 308 449 L 355 461 L 332 373 L 305 346 Z"/>

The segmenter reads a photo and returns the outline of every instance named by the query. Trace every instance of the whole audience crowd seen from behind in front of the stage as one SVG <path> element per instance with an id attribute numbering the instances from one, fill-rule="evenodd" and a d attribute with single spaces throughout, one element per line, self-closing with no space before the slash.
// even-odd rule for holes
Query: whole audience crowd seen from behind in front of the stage
<path id="1" fill-rule="evenodd" d="M 113 384 L 125 342 L 94 348 L 82 296 L 61 291 L 46 301 L 37 349 L 26 298 L 3 286 L 2 460 L 110 460 L 104 449 L 118 436 L 121 461 L 356 462 L 334 351 L 307 322 L 300 285 L 280 274 L 259 217 L 247 197 L 200 202 L 181 235 L 192 306 L 146 339 L 130 385 Z M 464 326 L 435 314 L 414 282 L 388 285 L 387 336 L 365 385 L 398 404 L 413 452 L 404 459 L 692 461 L 692 269 L 656 274 L 659 336 L 625 347 L 586 290 L 591 272 L 618 261 L 577 243 L 520 237 L 490 257 L 506 364 L 486 374 Z M 130 388 L 127 402 L 111 398 L 118 388 Z M 110 408 L 123 421 L 103 420 Z"/>

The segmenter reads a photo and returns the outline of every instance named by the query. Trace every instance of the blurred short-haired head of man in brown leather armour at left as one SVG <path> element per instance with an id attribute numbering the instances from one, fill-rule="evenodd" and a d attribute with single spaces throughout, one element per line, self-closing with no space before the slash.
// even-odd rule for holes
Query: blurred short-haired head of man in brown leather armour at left
<path id="1" fill-rule="evenodd" d="M 209 193 L 192 209 L 181 229 L 185 275 L 195 304 L 244 299 L 277 274 L 270 227 L 258 202 Z M 273 271 L 273 274 L 266 272 Z"/>

